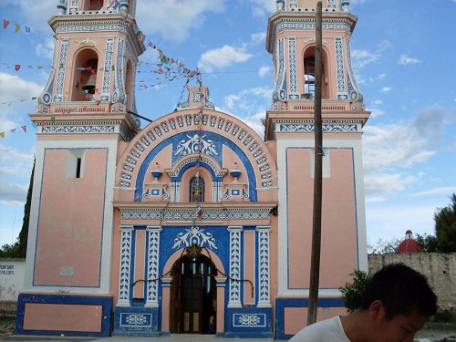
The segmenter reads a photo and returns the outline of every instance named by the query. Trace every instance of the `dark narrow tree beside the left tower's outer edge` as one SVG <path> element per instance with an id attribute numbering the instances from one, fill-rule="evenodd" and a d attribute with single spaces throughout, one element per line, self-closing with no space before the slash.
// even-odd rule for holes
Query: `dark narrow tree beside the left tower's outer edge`
<path id="1" fill-rule="evenodd" d="M 25 258 L 26 257 L 28 223 L 30 220 L 30 205 L 32 202 L 34 174 L 35 174 L 35 160 L 33 161 L 32 174 L 30 176 L 30 182 L 28 184 L 26 205 L 24 206 L 24 220 L 22 221 L 21 232 L 19 233 L 19 236 L 17 237 L 17 241 L 15 244 L 4 244 L 0 248 L 0 257 L 10 257 L 10 258 Z"/>

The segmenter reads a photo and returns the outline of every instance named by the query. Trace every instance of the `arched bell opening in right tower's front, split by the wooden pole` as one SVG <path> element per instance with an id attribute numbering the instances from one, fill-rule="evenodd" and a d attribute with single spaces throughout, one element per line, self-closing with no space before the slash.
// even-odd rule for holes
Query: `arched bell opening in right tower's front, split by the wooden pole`
<path id="1" fill-rule="evenodd" d="M 315 96 L 316 87 L 316 48 L 308 47 L 304 53 L 304 92 L 311 95 L 310 98 Z M 330 80 L 328 72 L 328 64 L 326 52 L 322 49 L 321 52 L 321 97 L 330 98 Z"/>

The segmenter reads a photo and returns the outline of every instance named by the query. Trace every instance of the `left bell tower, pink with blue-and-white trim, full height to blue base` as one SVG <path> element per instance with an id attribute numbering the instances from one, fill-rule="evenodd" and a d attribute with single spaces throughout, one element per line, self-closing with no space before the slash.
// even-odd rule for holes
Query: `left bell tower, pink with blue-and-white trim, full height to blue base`
<path id="1" fill-rule="evenodd" d="M 19 334 L 109 336 L 115 171 L 139 131 L 135 5 L 59 0 L 49 20 L 53 69 L 30 115 L 36 176 Z"/>

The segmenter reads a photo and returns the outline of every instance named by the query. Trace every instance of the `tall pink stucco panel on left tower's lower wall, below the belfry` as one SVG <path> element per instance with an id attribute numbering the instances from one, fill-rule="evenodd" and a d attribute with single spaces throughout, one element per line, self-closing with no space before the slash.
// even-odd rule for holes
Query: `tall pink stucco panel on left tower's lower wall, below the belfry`
<path id="1" fill-rule="evenodd" d="M 85 150 L 81 178 L 67 178 L 68 153 L 46 151 L 34 284 L 98 286 L 108 151 Z"/>

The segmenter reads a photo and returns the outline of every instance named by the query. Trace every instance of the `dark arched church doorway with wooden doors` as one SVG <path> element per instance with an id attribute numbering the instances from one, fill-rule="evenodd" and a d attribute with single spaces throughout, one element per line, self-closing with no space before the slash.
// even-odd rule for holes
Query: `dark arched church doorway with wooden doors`
<path id="1" fill-rule="evenodd" d="M 171 334 L 214 334 L 217 270 L 211 259 L 187 254 L 172 270 Z"/>

